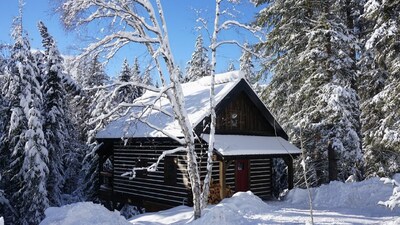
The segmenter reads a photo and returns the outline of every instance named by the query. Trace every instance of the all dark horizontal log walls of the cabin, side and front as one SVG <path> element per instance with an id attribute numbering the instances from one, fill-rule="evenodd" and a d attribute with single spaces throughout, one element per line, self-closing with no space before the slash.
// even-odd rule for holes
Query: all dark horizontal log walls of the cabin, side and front
<path id="1" fill-rule="evenodd" d="M 115 140 L 113 143 L 113 155 L 111 156 L 114 162 L 112 171 L 113 195 L 126 196 L 126 201 L 128 199 L 134 202 L 150 201 L 169 206 L 192 205 L 192 194 L 186 168 L 186 153 L 168 156 L 173 157 L 173 162 L 176 165 L 176 175 L 172 176 L 172 183 L 165 179 L 164 160 L 161 160 L 155 172 L 138 171 L 137 177 L 133 179 L 121 176 L 132 168 L 138 167 L 138 165 L 143 167 L 150 166 L 157 161 L 163 151 L 177 146 L 178 144 L 170 139 L 139 139 L 130 141 L 126 145 L 120 140 Z M 207 148 L 207 144 L 196 143 L 202 181 L 207 172 Z M 229 160 L 226 163 L 226 185 L 234 191 L 235 160 Z M 261 198 L 270 198 L 272 191 L 271 173 L 271 159 L 251 159 L 250 190 Z M 213 164 L 212 179 L 212 182 L 219 182 L 218 161 Z M 105 194 L 110 195 L 111 193 Z"/>

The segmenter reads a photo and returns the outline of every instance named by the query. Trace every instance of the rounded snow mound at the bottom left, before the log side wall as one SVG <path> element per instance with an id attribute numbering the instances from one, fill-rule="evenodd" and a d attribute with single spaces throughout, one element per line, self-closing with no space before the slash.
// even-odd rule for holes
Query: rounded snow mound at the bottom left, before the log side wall
<path id="1" fill-rule="evenodd" d="M 118 211 L 111 212 L 92 202 L 50 207 L 45 215 L 40 225 L 131 225 Z"/>

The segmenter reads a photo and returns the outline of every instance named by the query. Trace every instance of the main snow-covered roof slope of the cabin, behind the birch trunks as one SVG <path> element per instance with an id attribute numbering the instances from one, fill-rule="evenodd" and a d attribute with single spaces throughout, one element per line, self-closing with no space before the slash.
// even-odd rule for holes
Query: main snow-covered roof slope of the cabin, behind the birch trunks
<path id="1" fill-rule="evenodd" d="M 215 76 L 215 102 L 218 104 L 243 78 L 239 71 L 232 71 Z M 210 77 L 203 77 L 194 82 L 182 84 L 185 97 L 185 108 L 192 126 L 195 127 L 209 113 Z M 135 104 L 149 105 L 158 93 L 147 91 Z M 166 97 L 155 101 L 155 107 L 160 110 L 147 110 L 141 119 L 152 124 L 153 128 L 137 119 L 128 116 L 117 119 L 99 131 L 96 138 L 131 138 L 131 137 L 165 137 L 165 133 L 182 136 L 178 122 L 173 117 L 172 107 Z M 142 113 L 143 108 L 137 108 Z M 172 115 L 172 116 L 171 116 Z M 157 129 L 154 129 L 157 128 Z"/>

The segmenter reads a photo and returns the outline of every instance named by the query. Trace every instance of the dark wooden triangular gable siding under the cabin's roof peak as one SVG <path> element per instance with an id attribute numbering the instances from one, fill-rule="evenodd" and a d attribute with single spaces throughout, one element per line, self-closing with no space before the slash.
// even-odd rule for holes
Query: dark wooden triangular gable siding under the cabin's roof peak
<path id="1" fill-rule="evenodd" d="M 216 133 L 272 136 L 274 128 L 242 91 L 218 112 Z"/>

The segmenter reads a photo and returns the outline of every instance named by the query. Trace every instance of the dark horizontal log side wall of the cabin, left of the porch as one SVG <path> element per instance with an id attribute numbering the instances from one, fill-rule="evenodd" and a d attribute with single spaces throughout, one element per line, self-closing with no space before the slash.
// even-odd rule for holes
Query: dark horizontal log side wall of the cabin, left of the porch
<path id="1" fill-rule="evenodd" d="M 163 140 L 163 141 L 161 141 Z M 166 205 L 176 206 L 192 204 L 191 188 L 187 173 L 186 153 L 177 153 L 167 157 L 173 157 L 176 162 L 176 183 L 171 184 L 165 180 L 164 162 L 161 160 L 157 171 L 138 171 L 133 179 L 121 176 L 134 167 L 150 166 L 157 161 L 163 151 L 174 149 L 178 144 L 171 140 L 136 140 L 124 145 L 121 141 L 115 141 L 113 145 L 113 191 L 117 195 L 126 195 L 128 198 L 137 200 L 161 202 Z M 196 152 L 199 158 L 201 179 L 206 175 L 207 166 L 207 145 L 196 143 Z M 145 163 L 145 164 L 143 164 Z M 218 163 L 213 165 L 213 181 L 218 182 Z"/>

